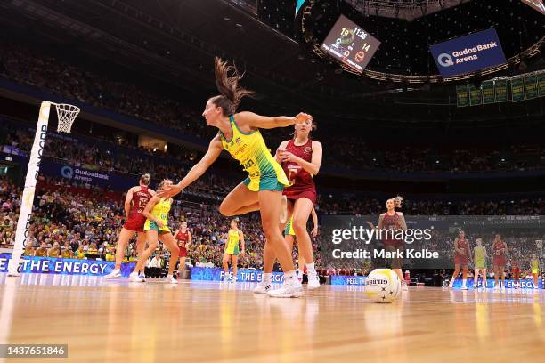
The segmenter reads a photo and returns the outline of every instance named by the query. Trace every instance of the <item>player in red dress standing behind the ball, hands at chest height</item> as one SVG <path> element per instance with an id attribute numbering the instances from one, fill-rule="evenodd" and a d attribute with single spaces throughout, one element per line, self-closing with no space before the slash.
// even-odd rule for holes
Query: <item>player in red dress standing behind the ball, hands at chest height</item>
<path id="1" fill-rule="evenodd" d="M 395 238 L 395 230 L 407 230 L 407 223 L 405 222 L 403 213 L 395 211 L 395 208 L 401 208 L 402 201 L 403 198 L 400 196 L 386 200 L 386 213 L 380 214 L 378 217 L 377 227 L 375 227 L 373 223 L 367 222 L 367 224 L 370 225 L 370 228 L 377 228 L 379 233 L 380 230 L 394 230 L 394 233 L 380 233 L 381 235 L 386 234 L 386 238 L 382 239 L 386 252 L 401 253 L 405 248 L 403 239 Z M 388 260 L 390 261 L 391 269 L 395 271 L 402 283 L 403 291 L 407 291 L 407 281 L 403 278 L 402 271 L 403 259 L 401 257 L 396 257 Z"/>

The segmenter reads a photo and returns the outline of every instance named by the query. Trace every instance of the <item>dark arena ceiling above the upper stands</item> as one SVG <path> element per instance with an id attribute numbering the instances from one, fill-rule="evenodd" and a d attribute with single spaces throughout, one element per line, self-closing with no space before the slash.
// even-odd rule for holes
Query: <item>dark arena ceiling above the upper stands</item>
<path id="1" fill-rule="evenodd" d="M 364 110 L 366 117 L 392 119 L 407 118 L 408 113 L 414 112 L 414 121 L 422 117 L 452 119 L 457 115 L 467 118 L 490 114 L 501 118 L 527 113 L 523 105 L 480 110 L 478 115 L 474 110 L 455 107 L 452 110 L 453 87 L 430 84 L 408 87 L 387 79 L 377 81 L 346 74 L 338 65 L 320 60 L 301 46 L 289 7 L 280 9 L 289 12 L 289 16 L 281 12 L 264 16 L 266 1 L 286 3 L 284 0 L 263 0 L 259 4 L 242 0 L 10 0 L 0 4 L 0 26 L 59 44 L 66 49 L 67 56 L 76 51 L 89 53 L 103 62 L 116 62 L 145 73 L 146 77 L 156 77 L 199 94 L 214 92 L 213 57 L 221 55 L 246 71 L 246 84 L 276 109 L 320 109 L 331 116 L 346 114 L 354 118 L 361 117 Z M 291 3 L 289 6 L 295 4 Z M 370 69 L 407 75 L 435 72 L 424 44 L 443 36 L 467 33 L 477 26 L 483 28 L 476 15 L 470 12 L 469 16 L 464 8 L 477 3 L 505 3 L 512 7 L 509 10 L 504 6 L 498 10 L 498 17 L 486 24 L 503 29 L 499 33 L 505 30 L 508 37 L 502 37 L 502 45 L 507 56 L 544 34 L 543 22 L 538 21 L 543 19 L 539 18 L 541 14 L 521 6 L 518 0 L 469 2 L 412 20 L 413 38 L 424 39 L 418 47 L 415 42 L 399 41 L 406 33 L 403 24 L 407 20 L 365 15 L 345 2 L 338 3 L 336 8 L 323 6 L 321 16 L 316 15 L 319 26 L 315 32 L 318 37 L 325 36 L 329 22 L 337 18 L 339 10 L 354 18 L 362 16 L 364 27 L 376 31 L 379 37 L 385 36 L 381 52 L 371 60 Z M 479 14 L 488 12 L 485 5 L 479 5 L 479 9 Z M 500 21 L 501 17 L 507 18 Z M 442 24 L 451 27 L 442 28 Z M 504 43 L 503 39 L 508 40 Z M 392 61 L 381 55 L 386 53 Z M 503 74 L 536 68 L 544 68 L 542 52 Z M 400 107 L 388 107 L 392 104 Z M 407 111 L 411 107 L 415 109 Z M 416 108 L 426 109 L 426 113 Z"/>

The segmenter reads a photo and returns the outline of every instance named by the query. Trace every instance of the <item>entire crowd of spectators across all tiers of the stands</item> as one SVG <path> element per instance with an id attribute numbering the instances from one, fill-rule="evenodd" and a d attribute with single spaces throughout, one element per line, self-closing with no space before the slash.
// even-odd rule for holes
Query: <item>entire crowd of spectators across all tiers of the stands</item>
<path id="1" fill-rule="evenodd" d="M 30 50 L 21 44 L 0 41 L 0 77 L 32 85 L 47 92 L 85 102 L 100 109 L 140 118 L 147 122 L 190 134 L 211 138 L 216 129 L 207 128 L 200 117 L 202 105 L 185 105 L 165 94 L 132 85 L 115 77 L 105 77 L 94 70 L 83 69 L 65 60 Z M 0 147 L 4 151 L 28 155 L 34 133 L 27 125 L 0 123 Z M 289 130 L 264 133 L 273 149 L 289 137 Z M 431 146 L 414 147 L 397 143 L 395 149 L 387 145 L 364 142 L 360 137 L 328 133 L 327 127 L 316 133 L 324 136 L 324 162 L 329 168 L 350 167 L 358 170 L 413 172 L 482 172 L 492 170 L 533 170 L 545 165 L 545 149 L 537 144 L 505 145 L 495 149 L 460 148 L 437 149 Z M 327 138 L 325 138 L 327 136 Z M 327 140 L 327 142 L 325 141 Z M 102 136 L 91 139 L 77 134 L 69 136 L 49 133 L 45 142 L 45 158 L 63 164 L 81 166 L 108 173 L 137 175 L 150 172 L 154 181 L 171 178 L 178 181 L 201 156 L 196 151 L 158 154 L 124 141 Z M 136 180 L 136 178 L 135 178 Z M 221 266 L 225 235 L 229 220 L 217 214 L 216 206 L 240 180 L 207 173 L 188 190 L 186 197 L 199 200 L 200 206 L 191 208 L 186 200 L 176 200 L 169 224 L 176 229 L 187 221 L 194 240 L 188 261 Z M 11 179 L 0 176 L 0 248 L 13 246 L 17 217 L 20 210 L 21 188 Z M 40 175 L 28 235 L 28 255 L 47 255 L 66 258 L 100 258 L 112 261 L 118 231 L 125 220 L 123 196 L 108 188 L 99 188 L 82 181 L 69 181 Z M 316 207 L 319 214 L 378 215 L 385 207 L 384 200 L 357 196 L 334 197 L 322 195 Z M 544 215 L 541 198 L 514 200 L 406 200 L 403 213 L 407 215 Z M 376 221 L 375 221 L 376 222 Z M 262 268 L 264 234 L 257 214 L 240 217 L 240 230 L 246 236 L 247 253 L 240 256 L 242 268 Z M 530 243 L 532 238 L 527 242 Z M 524 248 L 515 239 L 513 259 L 525 262 Z M 451 250 L 450 245 L 444 246 Z M 340 264 L 324 265 L 321 248 L 314 242 L 313 250 L 319 272 L 325 274 L 365 274 L 369 266 L 354 269 Z M 134 241 L 127 246 L 126 261 L 136 259 Z M 159 257 L 161 261 L 158 261 Z M 294 254 L 295 256 L 295 254 Z M 156 267 L 168 260 L 162 246 L 151 258 Z"/>

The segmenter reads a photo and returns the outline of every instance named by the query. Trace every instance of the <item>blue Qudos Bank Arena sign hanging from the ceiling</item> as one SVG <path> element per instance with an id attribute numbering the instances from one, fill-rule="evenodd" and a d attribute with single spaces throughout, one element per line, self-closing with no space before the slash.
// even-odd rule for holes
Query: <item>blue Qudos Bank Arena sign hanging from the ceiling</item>
<path id="1" fill-rule="evenodd" d="M 494 28 L 432 44 L 429 50 L 443 77 L 453 77 L 506 62 Z"/>

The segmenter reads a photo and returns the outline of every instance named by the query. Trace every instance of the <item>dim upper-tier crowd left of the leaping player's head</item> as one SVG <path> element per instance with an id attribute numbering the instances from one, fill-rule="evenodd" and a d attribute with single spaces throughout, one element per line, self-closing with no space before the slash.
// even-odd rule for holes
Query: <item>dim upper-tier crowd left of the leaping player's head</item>
<path id="1" fill-rule="evenodd" d="M 197 137 L 210 134 L 204 123 L 196 124 L 200 111 L 128 82 L 112 80 L 90 69 L 47 55 L 21 44 L 1 42 L 0 75 L 47 92 L 111 109 Z"/>

